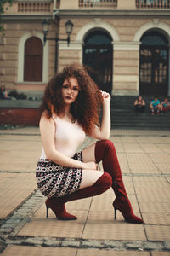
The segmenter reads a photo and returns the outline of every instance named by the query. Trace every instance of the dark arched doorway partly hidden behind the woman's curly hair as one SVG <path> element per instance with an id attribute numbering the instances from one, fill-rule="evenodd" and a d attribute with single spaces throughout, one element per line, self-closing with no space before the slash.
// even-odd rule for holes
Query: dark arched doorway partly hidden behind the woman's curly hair
<path id="1" fill-rule="evenodd" d="M 83 64 L 92 68 L 89 72 L 100 90 L 111 94 L 113 47 L 111 36 L 101 30 L 88 33 L 84 40 Z M 94 71 L 93 71 L 94 70 Z"/>

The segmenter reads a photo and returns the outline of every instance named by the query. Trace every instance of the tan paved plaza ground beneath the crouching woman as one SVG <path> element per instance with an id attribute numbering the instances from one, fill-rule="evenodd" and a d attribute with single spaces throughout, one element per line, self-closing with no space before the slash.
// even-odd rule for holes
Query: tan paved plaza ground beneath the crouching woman
<path id="1" fill-rule="evenodd" d="M 170 255 L 170 131 L 112 130 L 134 212 L 127 224 L 112 190 L 66 207 L 77 221 L 45 218 L 35 167 L 42 150 L 37 128 L 0 131 L 0 253 L 3 256 Z M 87 137 L 83 147 L 94 143 Z M 80 148 L 80 149 L 82 149 Z"/>

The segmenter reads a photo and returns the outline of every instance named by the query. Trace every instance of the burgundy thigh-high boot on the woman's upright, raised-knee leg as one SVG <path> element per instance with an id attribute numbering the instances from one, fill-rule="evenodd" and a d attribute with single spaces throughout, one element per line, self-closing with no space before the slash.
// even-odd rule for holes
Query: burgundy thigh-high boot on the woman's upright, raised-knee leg
<path id="1" fill-rule="evenodd" d="M 97 163 L 102 160 L 104 171 L 110 173 L 112 177 L 112 189 L 116 195 L 116 199 L 113 202 L 115 219 L 116 210 L 119 210 L 122 212 L 125 221 L 137 224 L 144 223 L 141 218 L 135 216 L 133 213 L 133 208 L 128 200 L 127 192 L 122 181 L 122 172 L 116 156 L 116 149 L 110 140 L 102 140 L 96 143 L 95 159 Z"/>

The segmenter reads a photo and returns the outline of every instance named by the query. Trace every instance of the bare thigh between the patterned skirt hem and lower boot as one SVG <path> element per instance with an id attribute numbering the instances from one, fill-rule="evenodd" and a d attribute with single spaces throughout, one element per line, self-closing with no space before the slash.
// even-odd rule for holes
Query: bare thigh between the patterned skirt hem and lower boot
<path id="1" fill-rule="evenodd" d="M 82 181 L 79 189 L 91 187 L 101 177 L 103 172 L 95 170 L 82 170 Z"/>

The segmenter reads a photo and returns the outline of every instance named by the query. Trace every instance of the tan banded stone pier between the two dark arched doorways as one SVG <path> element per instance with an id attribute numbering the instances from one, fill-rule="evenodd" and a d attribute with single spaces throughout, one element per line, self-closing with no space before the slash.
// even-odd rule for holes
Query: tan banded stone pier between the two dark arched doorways
<path id="1" fill-rule="evenodd" d="M 140 42 L 113 42 L 112 95 L 139 95 Z"/>

